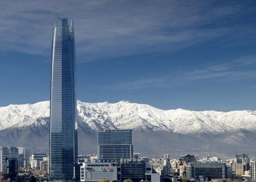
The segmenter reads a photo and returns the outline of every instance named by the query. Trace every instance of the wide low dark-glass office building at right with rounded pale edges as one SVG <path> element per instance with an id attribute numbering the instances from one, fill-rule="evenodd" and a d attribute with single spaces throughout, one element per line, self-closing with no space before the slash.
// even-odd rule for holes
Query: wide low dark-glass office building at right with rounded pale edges
<path id="1" fill-rule="evenodd" d="M 199 179 L 203 176 L 210 177 L 211 179 L 224 179 L 227 178 L 227 165 L 219 162 L 194 162 L 186 166 L 187 178 Z"/>

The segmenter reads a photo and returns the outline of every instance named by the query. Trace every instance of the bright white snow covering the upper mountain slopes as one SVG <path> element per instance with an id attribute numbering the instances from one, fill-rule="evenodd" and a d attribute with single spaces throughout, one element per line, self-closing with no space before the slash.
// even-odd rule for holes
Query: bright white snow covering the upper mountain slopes
<path id="1" fill-rule="evenodd" d="M 180 134 L 222 134 L 232 129 L 256 131 L 255 111 L 160 110 L 149 105 L 120 101 L 86 103 L 77 101 L 78 124 L 83 129 L 150 129 Z M 48 125 L 49 101 L 33 105 L 9 105 L 0 108 L 0 130 L 29 125 Z M 39 118 L 39 119 L 38 119 Z"/>

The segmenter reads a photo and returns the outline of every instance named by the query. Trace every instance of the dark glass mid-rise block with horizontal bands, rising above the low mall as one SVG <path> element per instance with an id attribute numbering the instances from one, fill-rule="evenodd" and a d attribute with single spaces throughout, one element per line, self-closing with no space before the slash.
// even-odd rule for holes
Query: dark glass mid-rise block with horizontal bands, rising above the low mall
<path id="1" fill-rule="evenodd" d="M 104 129 L 98 132 L 98 159 L 115 161 L 133 157 L 132 129 Z"/>

